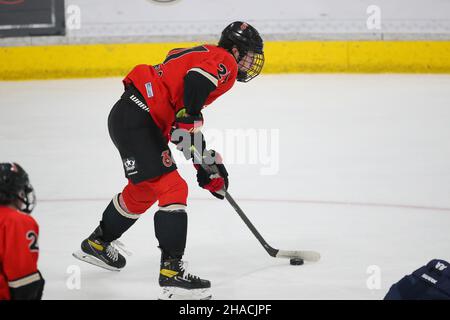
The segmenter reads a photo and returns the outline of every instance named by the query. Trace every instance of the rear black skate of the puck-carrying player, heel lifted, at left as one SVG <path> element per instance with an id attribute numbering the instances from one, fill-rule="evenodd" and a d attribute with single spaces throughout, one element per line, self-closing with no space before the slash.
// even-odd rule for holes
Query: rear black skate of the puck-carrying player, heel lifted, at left
<path id="1" fill-rule="evenodd" d="M 112 271 L 120 271 L 125 267 L 126 259 L 113 245 L 102 239 L 102 229 L 97 227 L 95 231 L 81 243 L 81 251 L 73 256 L 81 261 L 96 265 Z"/>

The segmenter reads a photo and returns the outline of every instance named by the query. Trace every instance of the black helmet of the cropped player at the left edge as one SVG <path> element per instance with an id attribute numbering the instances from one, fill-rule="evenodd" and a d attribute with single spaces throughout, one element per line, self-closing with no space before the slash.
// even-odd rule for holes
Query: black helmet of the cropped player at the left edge
<path id="1" fill-rule="evenodd" d="M 2 204 L 15 205 L 25 213 L 31 213 L 36 204 L 28 174 L 17 163 L 0 163 L 0 205 Z"/>

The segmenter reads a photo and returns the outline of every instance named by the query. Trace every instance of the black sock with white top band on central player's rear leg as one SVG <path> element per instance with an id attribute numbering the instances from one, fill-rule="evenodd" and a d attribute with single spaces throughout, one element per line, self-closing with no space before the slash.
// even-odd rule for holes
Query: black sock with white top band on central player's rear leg
<path id="1" fill-rule="evenodd" d="M 106 242 L 119 239 L 140 217 L 139 214 L 126 212 L 119 204 L 119 196 L 114 196 L 100 221 L 102 239 Z"/>

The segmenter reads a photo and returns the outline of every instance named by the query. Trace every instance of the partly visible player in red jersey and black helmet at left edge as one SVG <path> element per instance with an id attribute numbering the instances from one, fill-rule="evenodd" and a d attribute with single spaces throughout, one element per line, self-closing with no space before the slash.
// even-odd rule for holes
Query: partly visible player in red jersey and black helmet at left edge
<path id="1" fill-rule="evenodd" d="M 37 268 L 39 227 L 27 173 L 0 163 L 0 300 L 39 300 L 44 279 Z"/>

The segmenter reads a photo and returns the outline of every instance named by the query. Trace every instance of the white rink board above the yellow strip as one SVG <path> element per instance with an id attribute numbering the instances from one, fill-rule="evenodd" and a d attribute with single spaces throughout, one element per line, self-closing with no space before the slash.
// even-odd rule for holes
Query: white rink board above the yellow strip
<path id="1" fill-rule="evenodd" d="M 81 27 L 69 26 L 69 37 L 209 36 L 235 20 L 250 21 L 266 38 L 450 35 L 450 2 L 441 0 L 69 0 L 69 5 L 81 12 Z M 367 27 L 373 5 L 380 29 Z"/>

